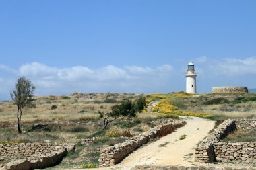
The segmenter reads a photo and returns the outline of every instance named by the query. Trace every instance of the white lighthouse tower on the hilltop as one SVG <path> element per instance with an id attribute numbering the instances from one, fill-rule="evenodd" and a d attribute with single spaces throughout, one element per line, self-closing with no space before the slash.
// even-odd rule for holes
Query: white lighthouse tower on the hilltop
<path id="1" fill-rule="evenodd" d="M 197 81 L 196 81 L 197 73 L 195 73 L 195 65 L 191 61 L 189 65 L 187 65 L 187 73 L 186 73 L 186 92 L 187 93 L 197 93 Z"/>

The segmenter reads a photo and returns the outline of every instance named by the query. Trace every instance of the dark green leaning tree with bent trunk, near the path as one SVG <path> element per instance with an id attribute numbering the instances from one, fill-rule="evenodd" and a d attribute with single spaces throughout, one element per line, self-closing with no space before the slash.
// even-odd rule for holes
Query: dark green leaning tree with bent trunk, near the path
<path id="1" fill-rule="evenodd" d="M 123 99 L 121 103 L 114 105 L 110 112 L 104 114 L 103 129 L 105 129 L 110 122 L 119 118 L 119 116 L 135 117 L 135 112 L 134 103 L 129 99 Z M 99 114 L 103 115 L 102 112 L 99 112 Z"/>

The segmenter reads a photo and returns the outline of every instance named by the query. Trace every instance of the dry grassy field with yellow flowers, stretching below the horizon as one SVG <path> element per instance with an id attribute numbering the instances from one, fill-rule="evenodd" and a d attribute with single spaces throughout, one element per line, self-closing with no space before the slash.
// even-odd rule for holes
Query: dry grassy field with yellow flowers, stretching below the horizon
<path id="1" fill-rule="evenodd" d="M 209 93 L 193 95 L 189 93 L 168 93 L 143 95 L 147 103 L 154 101 L 150 112 L 143 110 L 136 118 L 121 117 L 102 130 L 100 112 L 109 112 L 122 99 L 138 99 L 135 94 L 82 94 L 66 96 L 34 97 L 29 108 L 22 115 L 22 134 L 16 128 L 16 106 L 12 101 L 0 102 L 0 143 L 46 142 L 77 143 L 79 139 L 98 136 L 89 146 L 77 143 L 77 150 L 68 153 L 57 167 L 97 167 L 100 147 L 123 142 L 125 137 L 157 125 L 155 120 L 178 118 L 178 116 L 198 116 L 217 120 L 227 118 L 252 118 L 256 116 L 255 93 Z M 34 124 L 46 127 L 33 130 Z M 185 138 L 185 136 L 184 136 Z M 236 132 L 225 141 L 255 140 L 255 133 Z M 56 167 L 55 167 L 56 168 Z M 53 168 L 54 169 L 54 168 Z"/>

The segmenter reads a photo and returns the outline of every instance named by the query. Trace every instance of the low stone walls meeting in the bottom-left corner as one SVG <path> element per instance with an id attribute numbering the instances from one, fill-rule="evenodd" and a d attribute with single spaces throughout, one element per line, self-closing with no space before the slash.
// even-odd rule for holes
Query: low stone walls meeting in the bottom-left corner
<path id="1" fill-rule="evenodd" d="M 73 144 L 0 144 L 0 158 L 5 164 L 0 169 L 26 170 L 51 167 L 59 163 L 67 151 L 75 150 Z"/>

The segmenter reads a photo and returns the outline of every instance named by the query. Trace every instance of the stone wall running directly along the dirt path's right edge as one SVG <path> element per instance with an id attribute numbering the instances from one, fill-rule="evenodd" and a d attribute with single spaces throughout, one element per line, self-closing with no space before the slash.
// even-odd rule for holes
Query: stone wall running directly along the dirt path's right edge
<path id="1" fill-rule="evenodd" d="M 195 162 L 212 163 L 216 162 L 216 155 L 214 153 L 214 143 L 219 142 L 228 134 L 236 130 L 234 120 L 226 120 L 220 124 L 214 132 L 210 133 L 202 142 L 197 144 L 195 148 Z"/>

